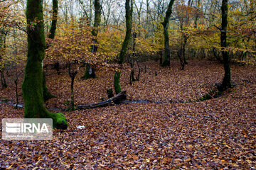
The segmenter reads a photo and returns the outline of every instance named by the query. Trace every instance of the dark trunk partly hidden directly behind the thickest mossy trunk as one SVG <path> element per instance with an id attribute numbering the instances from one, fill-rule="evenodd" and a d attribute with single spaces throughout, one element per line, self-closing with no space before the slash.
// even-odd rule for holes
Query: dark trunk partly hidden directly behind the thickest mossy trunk
<path id="1" fill-rule="evenodd" d="M 58 0 L 53 0 L 53 16 L 50 26 L 50 34 L 48 35 L 48 38 L 54 39 L 55 32 L 57 28 L 57 19 L 58 19 Z M 54 98 L 55 96 L 53 94 L 50 94 L 50 91 L 48 91 L 48 88 L 46 86 L 46 72 L 43 72 L 43 101 L 48 101 L 50 98 Z"/>

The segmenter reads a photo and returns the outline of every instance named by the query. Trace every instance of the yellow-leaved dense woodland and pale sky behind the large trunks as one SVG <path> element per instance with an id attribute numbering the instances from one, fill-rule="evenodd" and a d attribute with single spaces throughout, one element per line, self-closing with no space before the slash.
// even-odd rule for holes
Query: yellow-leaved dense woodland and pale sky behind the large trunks
<path id="1" fill-rule="evenodd" d="M 45 64 L 73 60 L 112 63 L 119 57 L 125 36 L 125 1 L 100 1 L 95 20 L 94 1 L 58 1 L 55 38 L 50 38 L 53 2 L 43 1 L 48 49 Z M 134 1 L 132 39 L 126 60 L 161 60 L 163 25 L 169 1 Z M 171 58 L 215 59 L 220 54 L 221 1 L 175 1 L 169 21 Z M 255 64 L 255 1 L 229 1 L 228 55 L 233 62 Z M 1 72 L 26 61 L 26 1 L 1 2 Z M 57 17 L 57 16 L 56 16 Z M 95 23 L 95 21 L 97 23 Z M 97 28 L 97 33 L 92 29 Z M 92 40 L 93 39 L 93 40 Z M 97 53 L 90 45 L 97 40 Z M 133 47 L 134 44 L 134 47 Z"/>

